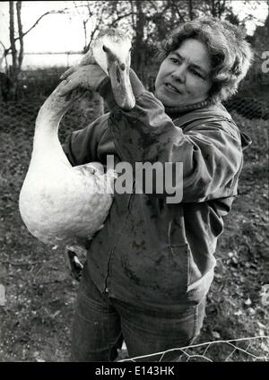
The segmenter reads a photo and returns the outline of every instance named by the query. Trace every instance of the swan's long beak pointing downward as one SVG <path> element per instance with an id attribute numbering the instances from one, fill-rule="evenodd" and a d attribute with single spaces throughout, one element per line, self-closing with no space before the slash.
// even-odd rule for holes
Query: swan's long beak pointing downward
<path id="1" fill-rule="evenodd" d="M 107 53 L 108 75 L 117 105 L 129 111 L 135 106 L 134 92 L 129 76 L 130 56 L 126 62 L 123 62 L 106 46 L 103 47 L 103 50 Z"/>

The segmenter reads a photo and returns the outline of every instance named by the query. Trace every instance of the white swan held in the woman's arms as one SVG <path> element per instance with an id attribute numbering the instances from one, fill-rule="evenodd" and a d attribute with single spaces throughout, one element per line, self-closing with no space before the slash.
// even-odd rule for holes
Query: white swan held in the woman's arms
<path id="1" fill-rule="evenodd" d="M 119 107 L 134 107 L 129 80 L 131 40 L 121 30 L 101 30 L 79 65 L 100 65 L 108 74 Z M 117 174 L 100 162 L 72 167 L 58 140 L 61 118 L 81 91 L 61 97 L 61 82 L 36 119 L 30 166 L 19 197 L 31 235 L 50 246 L 84 247 L 103 227 L 113 202 Z"/>

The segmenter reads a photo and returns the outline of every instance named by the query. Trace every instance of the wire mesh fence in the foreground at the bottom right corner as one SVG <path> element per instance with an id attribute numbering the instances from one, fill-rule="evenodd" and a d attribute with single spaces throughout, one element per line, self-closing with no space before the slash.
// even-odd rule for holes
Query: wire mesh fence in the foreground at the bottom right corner
<path id="1" fill-rule="evenodd" d="M 126 350 L 122 356 L 127 357 Z M 155 352 L 135 358 L 121 358 L 120 362 L 138 361 L 269 361 L 269 336 L 255 336 L 230 341 L 207 341 L 187 347 Z"/>

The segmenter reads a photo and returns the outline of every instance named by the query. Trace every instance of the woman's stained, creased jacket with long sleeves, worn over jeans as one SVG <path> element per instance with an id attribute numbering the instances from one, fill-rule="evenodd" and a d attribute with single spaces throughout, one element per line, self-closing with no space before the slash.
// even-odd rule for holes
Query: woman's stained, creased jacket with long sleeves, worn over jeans
<path id="1" fill-rule="evenodd" d="M 249 142 L 221 105 L 172 121 L 138 87 L 134 109 L 113 107 L 74 132 L 65 154 L 73 165 L 106 164 L 108 154 L 133 168 L 135 162 L 183 162 L 183 198 L 167 203 L 165 192 L 116 192 L 104 228 L 91 241 L 88 270 L 101 291 L 136 305 L 199 302 L 213 280 L 222 217 L 237 194 L 242 147 Z"/>

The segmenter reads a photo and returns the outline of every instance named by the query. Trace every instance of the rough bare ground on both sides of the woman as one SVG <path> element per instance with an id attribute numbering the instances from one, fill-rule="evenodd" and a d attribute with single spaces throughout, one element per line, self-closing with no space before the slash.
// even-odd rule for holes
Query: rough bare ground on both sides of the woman
<path id="1" fill-rule="evenodd" d="M 35 114 L 20 120 L 14 112 L 6 115 L 0 125 L 0 284 L 6 298 L 0 306 L 0 361 L 65 361 L 78 282 L 70 276 L 63 251 L 32 238 L 22 223 L 18 198 L 30 161 Z M 225 218 L 204 327 L 195 344 L 269 335 L 268 123 L 234 117 L 253 144 L 245 154 L 239 197 Z M 201 355 L 196 359 L 268 358 L 268 343 L 260 338 L 236 342 L 255 357 L 239 350 L 229 357 L 233 348 L 227 343 L 202 345 L 202 351 L 195 349 Z"/>

